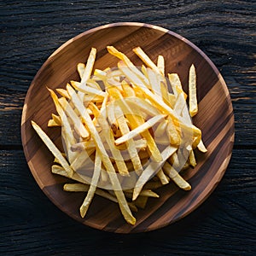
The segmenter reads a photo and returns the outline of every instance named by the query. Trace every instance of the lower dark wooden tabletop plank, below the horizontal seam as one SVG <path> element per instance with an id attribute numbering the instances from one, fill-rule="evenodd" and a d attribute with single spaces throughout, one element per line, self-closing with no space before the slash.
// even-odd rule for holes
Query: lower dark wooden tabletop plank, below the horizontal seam
<path id="1" fill-rule="evenodd" d="M 145 255 L 250 255 L 255 249 L 255 156 L 255 149 L 235 149 L 217 189 L 183 220 L 154 232 L 124 236 L 93 230 L 67 217 L 38 188 L 23 152 L 2 150 L 0 253 L 69 255 L 84 251 L 91 255 L 105 254 L 108 247 L 112 255 L 120 250 Z"/>

